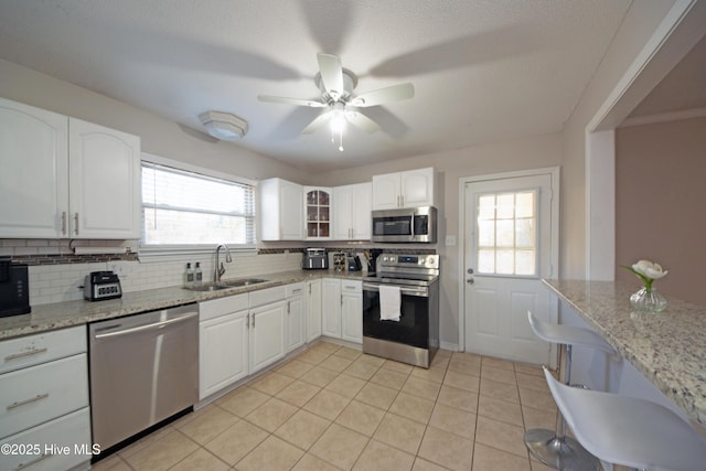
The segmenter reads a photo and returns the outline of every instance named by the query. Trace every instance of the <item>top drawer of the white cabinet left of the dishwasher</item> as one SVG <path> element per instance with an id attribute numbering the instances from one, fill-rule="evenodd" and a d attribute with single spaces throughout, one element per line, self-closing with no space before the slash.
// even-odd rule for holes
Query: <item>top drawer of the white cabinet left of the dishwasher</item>
<path id="1" fill-rule="evenodd" d="M 84 325 L 0 342 L 0 374 L 86 351 Z"/>

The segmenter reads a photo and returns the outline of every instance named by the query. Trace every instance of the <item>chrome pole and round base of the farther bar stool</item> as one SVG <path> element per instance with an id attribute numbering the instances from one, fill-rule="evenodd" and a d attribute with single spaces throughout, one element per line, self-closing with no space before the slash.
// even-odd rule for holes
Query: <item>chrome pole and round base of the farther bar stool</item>
<path id="1" fill-rule="evenodd" d="M 566 345 L 566 384 L 571 378 L 571 345 Z M 531 429 L 525 432 L 525 446 L 533 457 L 544 464 L 558 470 L 598 471 L 600 461 L 586 451 L 581 445 L 566 436 L 566 421 L 557 413 L 556 430 Z"/>

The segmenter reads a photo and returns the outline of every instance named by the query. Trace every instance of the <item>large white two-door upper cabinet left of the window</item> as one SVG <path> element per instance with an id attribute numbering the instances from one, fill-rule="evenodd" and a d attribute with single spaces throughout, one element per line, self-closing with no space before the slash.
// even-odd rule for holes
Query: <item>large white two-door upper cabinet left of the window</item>
<path id="1" fill-rule="evenodd" d="M 0 98 L 0 237 L 140 237 L 140 139 Z"/>

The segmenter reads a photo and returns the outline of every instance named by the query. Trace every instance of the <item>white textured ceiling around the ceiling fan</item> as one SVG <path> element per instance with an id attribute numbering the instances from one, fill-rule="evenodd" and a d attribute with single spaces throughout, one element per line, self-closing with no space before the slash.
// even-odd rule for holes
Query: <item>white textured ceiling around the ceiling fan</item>
<path id="1" fill-rule="evenodd" d="M 0 57 L 203 130 L 246 119 L 237 146 L 319 171 L 559 131 L 630 0 L 3 0 Z M 317 53 L 357 93 L 411 82 L 363 109 L 382 131 L 299 132 L 320 109 Z"/>

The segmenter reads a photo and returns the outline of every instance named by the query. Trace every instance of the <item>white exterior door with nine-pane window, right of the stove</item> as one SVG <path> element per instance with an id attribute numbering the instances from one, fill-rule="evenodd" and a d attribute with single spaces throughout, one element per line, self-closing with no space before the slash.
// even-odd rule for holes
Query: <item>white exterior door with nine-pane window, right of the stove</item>
<path id="1" fill-rule="evenodd" d="M 527 311 L 556 321 L 542 278 L 558 254 L 556 171 L 464 184 L 464 347 L 513 361 L 553 365 Z"/>

